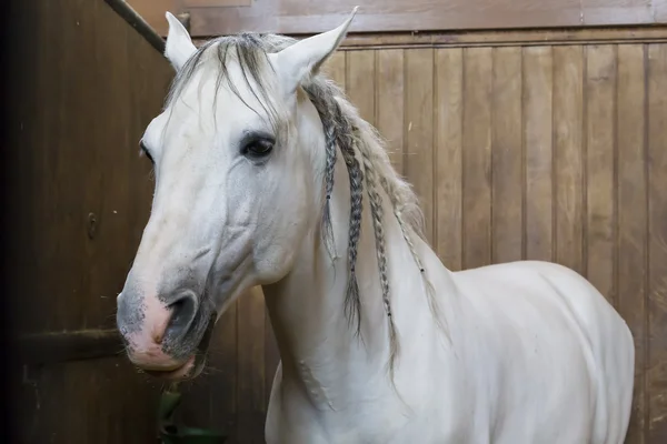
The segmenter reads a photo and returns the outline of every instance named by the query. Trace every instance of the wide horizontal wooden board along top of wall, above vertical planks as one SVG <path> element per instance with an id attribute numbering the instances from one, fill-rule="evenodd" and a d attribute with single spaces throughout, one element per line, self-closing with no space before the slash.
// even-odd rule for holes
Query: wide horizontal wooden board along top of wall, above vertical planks
<path id="1" fill-rule="evenodd" d="M 130 3 L 146 3 L 131 0 Z M 165 1 L 165 0 L 161 0 Z M 358 2 L 186 0 L 195 36 L 239 31 L 289 34 L 322 32 L 340 24 Z M 241 3 L 235 7 L 233 3 Z M 159 3 L 160 4 L 160 3 Z M 158 20 L 160 6 L 142 10 Z M 664 23 L 665 0 L 374 0 L 362 4 L 351 32 L 583 28 Z"/>

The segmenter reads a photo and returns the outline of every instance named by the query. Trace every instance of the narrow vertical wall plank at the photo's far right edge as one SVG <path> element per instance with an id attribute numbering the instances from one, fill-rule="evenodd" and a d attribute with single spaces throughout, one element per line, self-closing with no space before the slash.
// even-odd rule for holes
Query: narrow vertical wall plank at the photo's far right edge
<path id="1" fill-rule="evenodd" d="M 647 443 L 667 442 L 667 44 L 648 47 Z"/>

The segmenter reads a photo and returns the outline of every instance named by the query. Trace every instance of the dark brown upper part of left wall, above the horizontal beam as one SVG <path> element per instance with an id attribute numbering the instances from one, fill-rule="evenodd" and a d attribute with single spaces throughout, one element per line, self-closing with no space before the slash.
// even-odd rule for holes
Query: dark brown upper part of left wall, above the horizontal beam
<path id="1" fill-rule="evenodd" d="M 8 285 L 41 307 L 19 313 L 23 333 L 108 329 L 150 211 L 150 162 L 138 141 L 172 71 L 103 2 L 40 8 L 31 39 L 53 46 L 16 56 L 21 71 L 11 74 L 22 94 L 11 118 L 11 143 L 22 147 L 12 158 L 20 192 L 11 229 L 23 246 L 11 253 L 22 278 Z"/>

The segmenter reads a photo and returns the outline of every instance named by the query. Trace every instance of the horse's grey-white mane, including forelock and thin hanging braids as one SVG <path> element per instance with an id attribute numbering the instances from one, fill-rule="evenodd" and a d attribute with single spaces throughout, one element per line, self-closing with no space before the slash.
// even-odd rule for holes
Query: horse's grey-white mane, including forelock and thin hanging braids
<path id="1" fill-rule="evenodd" d="M 228 62 L 235 60 L 239 63 L 247 87 L 271 119 L 270 123 L 273 127 L 281 127 L 286 117 L 281 113 L 283 111 L 281 111 L 279 103 L 273 101 L 270 82 L 266 80 L 267 75 L 270 75 L 268 72 L 270 63 L 267 54 L 278 52 L 296 41 L 292 38 L 279 34 L 250 32 L 209 40 L 197 50 L 178 72 L 169 90 L 166 104 L 169 105 L 181 94 L 188 82 L 202 67 L 212 67 L 217 71 L 216 90 L 226 81 L 230 90 L 243 100 L 237 87 L 230 80 L 228 72 Z M 437 315 L 435 292 L 426 276 L 424 265 L 414 244 L 414 236 L 425 240 L 422 231 L 424 216 L 418 198 L 411 186 L 398 175 L 391 165 L 385 142 L 379 133 L 372 125 L 361 119 L 357 109 L 347 100 L 338 85 L 318 72 L 302 81 L 301 89 L 317 109 L 325 131 L 327 151 L 326 164 L 323 165 L 326 200 L 321 232 L 322 241 L 332 258 L 335 252 L 332 251 L 329 198 L 334 190 L 334 169 L 338 152 L 341 153 L 348 170 L 351 199 L 348 238 L 349 273 L 345 312 L 349 322 L 356 324 L 357 334 L 360 333 L 361 303 L 355 264 L 357 245 L 361 235 L 362 200 L 364 189 L 366 188 L 372 216 L 382 300 L 389 323 L 389 369 L 394 374 L 394 363 L 398 354 L 398 337 L 391 312 L 382 193 L 389 199 L 392 216 L 397 220 L 415 264 L 421 273 L 426 291 L 429 294 L 429 306 L 436 315 L 436 320 L 440 319 Z M 260 97 L 262 100 L 260 100 Z"/>

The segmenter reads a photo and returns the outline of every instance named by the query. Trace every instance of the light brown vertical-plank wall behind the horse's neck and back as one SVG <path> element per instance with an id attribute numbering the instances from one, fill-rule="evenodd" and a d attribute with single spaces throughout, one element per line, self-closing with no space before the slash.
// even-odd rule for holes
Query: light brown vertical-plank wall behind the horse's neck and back
<path id="1" fill-rule="evenodd" d="M 387 44 L 328 68 L 448 268 L 555 261 L 607 296 L 637 347 L 627 442 L 667 442 L 667 43 Z"/>

